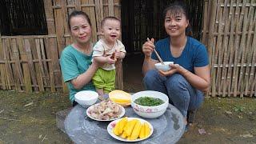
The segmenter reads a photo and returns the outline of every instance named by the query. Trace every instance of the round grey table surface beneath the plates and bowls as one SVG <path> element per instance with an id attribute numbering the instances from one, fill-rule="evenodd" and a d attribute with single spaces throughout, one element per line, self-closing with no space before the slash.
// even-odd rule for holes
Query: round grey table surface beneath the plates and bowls
<path id="1" fill-rule="evenodd" d="M 126 107 L 127 117 L 142 118 L 135 114 L 131 106 Z M 142 118 L 150 122 L 154 127 L 153 134 L 150 138 L 136 143 L 175 143 L 182 137 L 185 131 L 185 124 L 183 116 L 180 111 L 169 104 L 167 110 L 159 118 L 148 119 Z M 77 105 L 70 110 L 70 114 L 65 119 L 66 134 L 75 143 L 100 143 L 100 144 L 114 144 L 125 143 L 112 138 L 108 134 L 106 127 L 110 122 L 99 122 L 89 118 L 86 115 L 86 108 Z"/>

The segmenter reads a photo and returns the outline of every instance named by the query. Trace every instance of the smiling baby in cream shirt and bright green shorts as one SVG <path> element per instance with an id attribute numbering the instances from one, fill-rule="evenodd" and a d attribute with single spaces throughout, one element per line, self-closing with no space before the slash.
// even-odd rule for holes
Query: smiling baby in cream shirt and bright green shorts
<path id="1" fill-rule="evenodd" d="M 93 61 L 104 65 L 94 74 L 93 82 L 100 96 L 115 89 L 115 66 L 117 60 L 125 58 L 126 50 L 121 41 L 121 22 L 115 17 L 103 18 L 100 39 L 94 46 Z"/>

